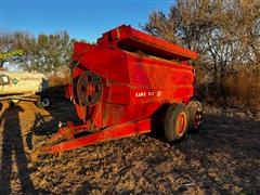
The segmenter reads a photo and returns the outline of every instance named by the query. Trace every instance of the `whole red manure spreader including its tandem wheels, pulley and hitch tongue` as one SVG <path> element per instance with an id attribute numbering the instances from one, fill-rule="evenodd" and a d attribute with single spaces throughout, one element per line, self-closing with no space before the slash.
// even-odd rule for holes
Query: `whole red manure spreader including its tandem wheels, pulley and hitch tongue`
<path id="1" fill-rule="evenodd" d="M 39 153 L 154 129 L 172 142 L 188 129 L 198 130 L 202 105 L 190 65 L 196 58 L 196 52 L 126 25 L 104 32 L 96 44 L 76 42 L 66 98 L 74 102 L 82 125 L 61 126 Z"/>

